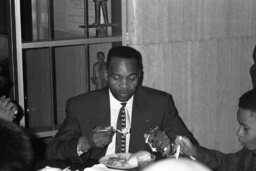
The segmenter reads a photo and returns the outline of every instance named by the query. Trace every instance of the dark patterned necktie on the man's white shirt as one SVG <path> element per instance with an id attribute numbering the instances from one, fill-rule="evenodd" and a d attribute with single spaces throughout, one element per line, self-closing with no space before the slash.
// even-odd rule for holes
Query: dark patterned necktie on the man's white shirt
<path id="1" fill-rule="evenodd" d="M 126 127 L 125 118 L 125 105 L 126 103 L 121 103 L 118 118 L 117 118 L 117 129 L 123 130 Z M 116 153 L 125 153 L 126 151 L 126 135 L 119 132 L 116 133 Z"/>

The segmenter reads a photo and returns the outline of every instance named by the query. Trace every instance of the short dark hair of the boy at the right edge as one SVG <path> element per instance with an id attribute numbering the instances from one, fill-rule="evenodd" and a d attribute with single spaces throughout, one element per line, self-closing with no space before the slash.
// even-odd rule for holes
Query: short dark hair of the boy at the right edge
<path id="1" fill-rule="evenodd" d="M 252 89 L 244 93 L 239 98 L 239 108 L 248 109 L 256 112 L 256 89 Z"/>

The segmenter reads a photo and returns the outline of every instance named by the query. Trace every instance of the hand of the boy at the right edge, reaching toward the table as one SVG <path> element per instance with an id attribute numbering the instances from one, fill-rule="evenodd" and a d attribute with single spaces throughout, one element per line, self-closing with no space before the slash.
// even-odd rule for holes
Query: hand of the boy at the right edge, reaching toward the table
<path id="1" fill-rule="evenodd" d="M 188 156 L 196 156 L 196 147 L 192 144 L 189 138 L 185 136 L 177 136 L 175 143 L 180 145 L 180 151 Z"/>

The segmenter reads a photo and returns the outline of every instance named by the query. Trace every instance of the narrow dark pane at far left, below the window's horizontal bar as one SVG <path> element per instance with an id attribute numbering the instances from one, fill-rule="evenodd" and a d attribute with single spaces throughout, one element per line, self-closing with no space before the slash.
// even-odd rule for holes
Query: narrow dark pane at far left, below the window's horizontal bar
<path id="1" fill-rule="evenodd" d="M 49 49 L 24 51 L 25 96 L 30 128 L 49 126 L 52 113 L 52 84 Z"/>

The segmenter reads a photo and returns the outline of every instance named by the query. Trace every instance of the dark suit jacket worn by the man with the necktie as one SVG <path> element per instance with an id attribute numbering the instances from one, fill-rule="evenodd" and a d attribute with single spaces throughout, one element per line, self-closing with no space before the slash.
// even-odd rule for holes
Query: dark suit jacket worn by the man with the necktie
<path id="1" fill-rule="evenodd" d="M 133 101 L 129 152 L 140 150 L 152 152 L 145 143 L 144 134 L 158 125 L 171 140 L 185 135 L 197 143 L 191 132 L 178 116 L 170 94 L 144 86 L 138 86 Z M 64 159 L 86 162 L 99 159 L 106 148 L 93 148 L 82 156 L 77 155 L 78 139 L 88 135 L 96 126 L 110 125 L 110 101 L 108 88 L 103 88 L 73 97 L 66 104 L 66 119 L 58 133 L 49 143 L 46 156 L 49 159 Z"/>

